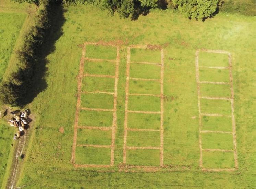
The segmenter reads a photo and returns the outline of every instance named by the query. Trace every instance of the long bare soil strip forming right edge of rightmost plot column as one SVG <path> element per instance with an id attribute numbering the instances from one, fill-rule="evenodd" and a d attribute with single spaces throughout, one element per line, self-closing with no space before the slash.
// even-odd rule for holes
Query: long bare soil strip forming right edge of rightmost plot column
<path id="1" fill-rule="evenodd" d="M 229 66 L 232 68 L 232 58 L 229 53 Z M 230 91 L 231 91 L 231 111 L 232 111 L 232 131 L 233 131 L 233 144 L 234 144 L 234 159 L 235 159 L 235 168 L 238 169 L 238 158 L 237 158 L 237 144 L 236 144 L 236 127 L 235 127 L 235 108 L 234 108 L 234 89 L 233 89 L 233 75 L 232 69 L 229 70 L 230 77 Z"/>

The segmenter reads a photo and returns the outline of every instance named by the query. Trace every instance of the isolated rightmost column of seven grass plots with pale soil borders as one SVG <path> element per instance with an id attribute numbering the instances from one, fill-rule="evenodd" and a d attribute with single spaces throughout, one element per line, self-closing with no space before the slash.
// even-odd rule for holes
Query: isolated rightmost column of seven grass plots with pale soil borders
<path id="1" fill-rule="evenodd" d="M 222 50 L 197 50 L 195 55 L 199 110 L 199 166 L 203 171 L 233 171 L 238 168 L 238 160 L 231 54 Z M 223 64 L 227 66 L 219 66 L 218 59 L 213 58 L 216 56 L 226 58 Z M 214 61 L 218 66 L 209 65 Z M 200 66 L 199 62 L 203 66 Z M 206 69 L 209 73 L 215 72 L 214 77 L 209 78 L 205 74 Z M 223 81 L 223 78 L 218 78 L 218 73 L 228 79 Z M 224 77 L 225 74 L 227 77 Z M 204 91 L 202 87 L 205 85 L 208 88 Z M 215 89 L 223 89 L 224 92 Z M 220 95 L 226 96 L 218 97 Z"/>

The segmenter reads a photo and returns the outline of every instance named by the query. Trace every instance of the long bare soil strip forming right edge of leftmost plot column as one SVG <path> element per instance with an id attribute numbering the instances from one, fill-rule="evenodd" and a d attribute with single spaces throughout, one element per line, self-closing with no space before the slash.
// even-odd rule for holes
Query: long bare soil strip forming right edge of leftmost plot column
<path id="1" fill-rule="evenodd" d="M 111 141 L 111 160 L 110 165 L 114 165 L 114 150 L 115 150 L 115 133 L 117 130 L 117 85 L 118 85 L 118 75 L 119 75 L 119 47 L 117 47 L 117 59 L 115 64 L 115 86 L 114 86 L 114 111 L 113 111 L 113 124 L 112 124 L 112 141 Z"/>

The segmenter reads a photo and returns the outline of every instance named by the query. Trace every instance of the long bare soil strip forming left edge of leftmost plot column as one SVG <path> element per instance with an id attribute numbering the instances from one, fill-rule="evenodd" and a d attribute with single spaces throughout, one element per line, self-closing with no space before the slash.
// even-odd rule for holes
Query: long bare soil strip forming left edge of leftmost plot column
<path id="1" fill-rule="evenodd" d="M 82 86 L 82 79 L 83 79 L 83 73 L 84 73 L 85 51 L 86 51 L 86 47 L 85 47 L 85 44 L 84 44 L 83 45 L 83 50 L 82 50 L 82 57 L 80 59 L 78 78 L 77 78 L 77 103 L 76 103 L 76 112 L 75 112 L 74 138 L 73 138 L 73 146 L 72 146 L 71 163 L 75 163 L 77 126 L 78 126 L 78 117 L 79 117 L 79 110 L 80 110 L 80 104 L 81 104 L 81 86 Z"/>

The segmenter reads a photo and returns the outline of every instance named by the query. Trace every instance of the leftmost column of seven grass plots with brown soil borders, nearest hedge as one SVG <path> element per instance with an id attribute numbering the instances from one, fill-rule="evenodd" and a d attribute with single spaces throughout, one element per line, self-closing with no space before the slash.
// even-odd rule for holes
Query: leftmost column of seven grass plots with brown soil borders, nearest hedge
<path id="1" fill-rule="evenodd" d="M 88 45 L 90 46 L 90 49 L 88 49 L 89 48 Z M 116 59 L 109 59 L 109 56 L 106 55 L 107 53 L 104 51 L 102 51 L 102 52 L 96 51 L 95 49 L 98 46 L 102 46 L 105 49 L 116 48 L 116 51 L 114 51 L 114 53 L 116 53 Z M 98 53 L 98 54 L 100 54 L 99 56 L 101 56 L 102 58 L 105 58 L 105 57 L 107 57 L 107 58 L 106 59 L 98 59 L 95 57 L 89 58 L 89 57 L 87 57 L 88 55 L 86 55 L 87 51 L 89 51 L 89 50 L 93 54 L 93 56 L 97 56 L 97 53 Z M 96 63 L 100 63 L 100 64 L 106 63 L 107 64 L 107 62 L 113 63 L 114 67 L 115 67 L 115 75 L 84 73 L 85 61 L 93 62 L 95 64 Z M 117 85 L 118 85 L 119 62 L 120 62 L 120 57 L 119 57 L 119 47 L 118 46 L 105 45 L 105 44 L 102 45 L 102 44 L 98 44 L 98 43 L 89 43 L 89 42 L 84 43 L 82 57 L 81 57 L 80 66 L 79 66 L 79 75 L 78 75 L 78 79 L 77 79 L 78 92 L 77 92 L 77 104 L 76 104 L 75 124 L 74 124 L 74 139 L 73 139 L 72 159 L 71 159 L 71 162 L 75 167 L 96 167 L 97 168 L 97 167 L 111 167 L 114 165 L 115 133 L 116 133 L 116 127 L 117 127 Z M 99 79 L 100 78 L 102 78 L 102 79 L 113 78 L 114 79 L 113 92 L 103 91 L 102 87 L 100 90 L 95 90 L 95 91 L 94 91 L 94 88 L 93 88 L 93 90 L 84 90 L 82 87 L 83 79 L 87 79 L 87 78 L 92 79 L 93 81 L 96 81 L 95 85 L 97 85 L 97 78 L 99 78 Z M 99 84 L 101 85 L 102 83 L 99 83 Z M 88 84 L 86 86 L 88 86 Z M 94 87 L 94 85 L 92 87 Z M 106 109 L 106 108 L 101 108 L 101 107 L 93 108 L 91 106 L 90 107 L 82 107 L 82 106 L 86 106 L 86 105 L 89 106 L 90 104 L 92 104 L 92 103 L 88 103 L 88 99 L 89 100 L 92 99 L 92 98 L 90 98 L 91 97 L 90 95 L 92 95 L 92 94 L 94 94 L 95 96 L 96 95 L 112 96 L 113 97 L 112 98 L 113 99 L 113 108 L 111 108 L 111 109 Z M 85 100 L 85 104 L 81 103 L 81 101 L 83 101 L 83 95 L 89 96 Z M 108 97 L 108 99 L 109 99 L 109 97 Z M 97 104 L 97 106 L 103 106 L 103 105 L 105 105 L 105 103 Z M 92 120 L 95 119 L 95 118 L 93 118 L 93 116 L 86 116 L 85 118 L 83 118 L 84 114 L 82 114 L 81 111 L 87 112 L 87 113 L 89 112 L 89 115 L 94 115 L 94 114 L 101 115 L 100 113 L 113 112 L 113 116 L 111 116 L 112 126 L 111 125 L 109 125 L 109 126 L 106 126 L 106 125 L 103 125 L 103 126 L 102 125 L 83 125 L 83 124 L 81 125 L 79 122 L 79 119 L 80 120 L 81 119 L 89 120 L 88 122 L 92 123 L 92 124 L 94 123 L 94 121 L 92 121 Z M 80 133 L 82 133 L 82 134 L 80 134 Z M 97 138 L 97 136 L 95 136 L 95 137 L 89 136 L 89 135 L 91 135 L 91 133 L 95 133 L 95 135 L 100 136 L 100 137 Z M 101 142 L 103 137 L 108 138 L 106 136 L 106 134 L 108 134 L 108 133 L 110 133 L 109 137 L 111 138 L 111 141 L 109 141 L 109 145 L 97 144 L 98 142 Z M 78 137 L 80 137 L 80 135 L 82 135 L 81 139 L 78 138 Z M 85 135 L 87 135 L 87 137 L 88 137 L 87 139 L 83 138 L 83 137 L 85 137 Z M 86 144 L 77 144 L 77 143 L 81 143 L 81 141 L 82 141 L 82 143 L 85 142 Z M 88 144 L 88 143 L 93 143 L 93 144 Z M 103 141 L 103 143 L 106 143 L 106 141 Z M 77 147 L 81 148 L 80 152 L 82 151 L 83 152 L 82 154 L 77 154 L 78 153 Z M 81 162 L 81 160 L 80 160 L 80 162 L 77 163 L 78 158 L 80 158 L 80 157 L 78 157 L 78 155 L 80 157 L 85 157 L 86 161 L 89 161 L 89 163 L 87 163 L 86 161 L 85 161 L 85 163 Z M 90 155 L 92 157 L 90 157 Z M 110 161 L 103 160 L 104 157 L 109 156 L 109 155 L 110 155 Z M 89 157 L 86 158 L 86 156 L 89 156 Z M 95 161 L 96 163 L 90 163 L 90 161 Z"/>

